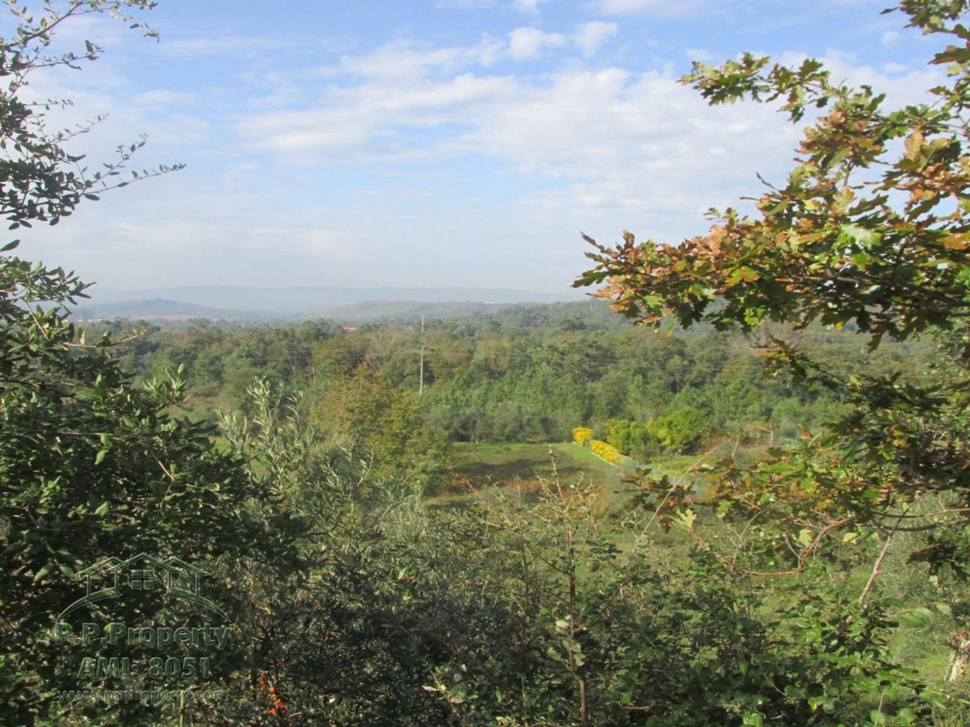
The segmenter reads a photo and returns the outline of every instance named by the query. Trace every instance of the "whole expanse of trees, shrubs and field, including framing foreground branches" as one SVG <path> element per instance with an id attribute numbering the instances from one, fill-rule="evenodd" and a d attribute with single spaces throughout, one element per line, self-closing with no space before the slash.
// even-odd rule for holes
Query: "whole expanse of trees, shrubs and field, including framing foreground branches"
<path id="1" fill-rule="evenodd" d="M 101 52 L 53 35 L 150 6 L 12 5 L 12 230 L 178 171 L 87 172 L 24 98 Z M 696 65 L 711 103 L 818 118 L 756 216 L 589 239 L 602 301 L 84 328 L 87 286 L 6 243 L 0 719 L 966 724 L 968 10 L 897 8 L 956 44 L 933 105 Z"/>

